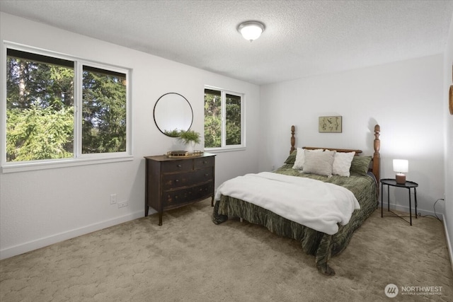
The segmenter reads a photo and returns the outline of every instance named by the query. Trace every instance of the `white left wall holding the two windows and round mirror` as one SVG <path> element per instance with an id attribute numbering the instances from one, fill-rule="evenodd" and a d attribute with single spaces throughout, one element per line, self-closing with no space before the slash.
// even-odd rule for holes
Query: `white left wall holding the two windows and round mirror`
<path id="1" fill-rule="evenodd" d="M 203 132 L 205 85 L 245 93 L 246 151 L 217 153 L 216 186 L 258 170 L 259 87 L 90 37 L 0 14 L 0 39 L 132 68 L 133 161 L 0 173 L 0 258 L 144 215 L 143 156 L 174 149 L 176 139 L 156 128 L 159 96 L 176 92 L 190 101 L 192 129 Z M 2 142 L 3 143 L 3 142 Z M 4 146 L 2 146 L 4 148 Z M 110 205 L 110 194 L 129 207 Z M 164 221 L 165 223 L 165 221 Z"/>

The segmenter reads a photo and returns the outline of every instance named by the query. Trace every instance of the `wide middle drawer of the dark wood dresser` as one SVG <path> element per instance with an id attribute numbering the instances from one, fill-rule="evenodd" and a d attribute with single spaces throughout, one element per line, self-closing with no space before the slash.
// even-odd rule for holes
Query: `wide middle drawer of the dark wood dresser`
<path id="1" fill-rule="evenodd" d="M 210 167 L 185 173 L 164 174 L 163 189 L 164 191 L 175 190 L 180 187 L 188 187 L 202 182 L 212 181 L 212 170 L 212 167 Z"/>

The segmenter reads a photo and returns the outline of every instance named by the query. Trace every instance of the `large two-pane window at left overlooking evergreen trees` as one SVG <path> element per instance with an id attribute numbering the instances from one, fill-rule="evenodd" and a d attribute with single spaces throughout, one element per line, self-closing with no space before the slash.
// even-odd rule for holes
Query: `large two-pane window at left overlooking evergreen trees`
<path id="1" fill-rule="evenodd" d="M 7 48 L 2 163 L 129 155 L 128 74 L 127 69 Z"/>

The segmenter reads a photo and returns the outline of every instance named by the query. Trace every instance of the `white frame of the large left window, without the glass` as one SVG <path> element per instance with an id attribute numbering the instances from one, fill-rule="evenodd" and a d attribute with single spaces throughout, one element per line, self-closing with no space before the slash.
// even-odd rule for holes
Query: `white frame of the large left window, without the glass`
<path id="1" fill-rule="evenodd" d="M 48 57 L 58 59 L 67 59 L 74 62 L 74 157 L 73 158 L 57 158 L 37 161 L 6 161 L 6 50 L 21 50 L 23 52 L 32 52 Z M 79 57 L 74 57 L 69 54 L 61 54 L 50 50 L 42 50 L 36 47 L 21 45 L 15 42 L 3 41 L 1 47 L 1 62 L 0 62 L 0 90 L 1 90 L 1 172 L 13 173 L 27 170 L 42 170 L 49 168 L 63 168 L 74 165 L 90 165 L 99 163 L 113 163 L 117 161 L 132 161 L 132 106 L 131 106 L 131 79 L 132 69 L 112 64 L 103 64 L 100 62 L 92 62 Z M 81 152 L 81 106 L 82 106 L 82 67 L 84 65 L 106 69 L 126 74 L 126 151 L 113 153 L 90 153 L 83 154 Z"/>

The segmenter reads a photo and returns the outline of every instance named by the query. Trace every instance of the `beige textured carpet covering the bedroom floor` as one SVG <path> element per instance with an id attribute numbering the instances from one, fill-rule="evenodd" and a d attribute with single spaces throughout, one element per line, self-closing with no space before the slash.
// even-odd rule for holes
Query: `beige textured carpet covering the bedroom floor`
<path id="1" fill-rule="evenodd" d="M 0 301 L 453 301 L 444 228 L 431 217 L 409 226 L 378 209 L 326 277 L 295 240 L 236 219 L 216 226 L 211 211 L 205 200 L 166 212 L 163 226 L 152 215 L 2 260 Z"/>

